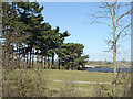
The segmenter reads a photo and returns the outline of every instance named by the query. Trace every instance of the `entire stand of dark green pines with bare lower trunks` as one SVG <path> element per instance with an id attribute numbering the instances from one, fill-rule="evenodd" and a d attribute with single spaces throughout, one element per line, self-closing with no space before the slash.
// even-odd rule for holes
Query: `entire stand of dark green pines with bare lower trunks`
<path id="1" fill-rule="evenodd" d="M 38 2 L 2 3 L 2 66 L 9 68 L 78 69 L 89 55 L 83 44 L 64 43 L 68 31 L 44 22 Z M 58 56 L 58 65 L 55 65 Z"/>

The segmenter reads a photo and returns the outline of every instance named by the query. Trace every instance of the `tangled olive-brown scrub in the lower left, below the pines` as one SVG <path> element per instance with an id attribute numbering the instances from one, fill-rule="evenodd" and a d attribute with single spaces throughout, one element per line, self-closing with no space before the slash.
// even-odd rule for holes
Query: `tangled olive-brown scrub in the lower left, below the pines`
<path id="1" fill-rule="evenodd" d="M 42 77 L 41 70 L 17 70 L 3 73 L 3 97 L 45 97 L 48 78 Z"/>

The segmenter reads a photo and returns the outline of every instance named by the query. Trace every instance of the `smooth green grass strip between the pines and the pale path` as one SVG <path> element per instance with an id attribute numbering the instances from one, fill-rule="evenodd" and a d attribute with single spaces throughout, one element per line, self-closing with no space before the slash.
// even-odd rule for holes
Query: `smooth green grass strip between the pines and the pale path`
<path id="1" fill-rule="evenodd" d="M 50 80 L 112 81 L 112 73 L 78 70 L 43 70 Z"/>

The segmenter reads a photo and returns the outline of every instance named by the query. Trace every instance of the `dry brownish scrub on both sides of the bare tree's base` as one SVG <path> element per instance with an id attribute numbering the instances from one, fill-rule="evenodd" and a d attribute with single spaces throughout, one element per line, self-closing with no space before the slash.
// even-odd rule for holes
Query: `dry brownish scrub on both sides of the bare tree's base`
<path id="1" fill-rule="evenodd" d="M 113 84 L 112 84 L 113 86 Z M 112 90 L 108 85 L 95 85 L 92 90 L 93 97 L 113 97 Z M 117 73 L 116 78 L 116 97 L 131 97 L 131 75 Z"/>

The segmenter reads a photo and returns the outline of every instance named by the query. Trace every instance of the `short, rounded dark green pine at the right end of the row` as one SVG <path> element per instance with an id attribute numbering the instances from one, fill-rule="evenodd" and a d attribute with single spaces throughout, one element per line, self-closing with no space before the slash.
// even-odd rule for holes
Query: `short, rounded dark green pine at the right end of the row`
<path id="1" fill-rule="evenodd" d="M 84 66 L 89 55 L 82 56 L 83 44 L 79 43 L 66 43 L 61 46 L 61 63 L 66 69 L 78 69 L 78 67 Z"/>

